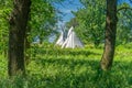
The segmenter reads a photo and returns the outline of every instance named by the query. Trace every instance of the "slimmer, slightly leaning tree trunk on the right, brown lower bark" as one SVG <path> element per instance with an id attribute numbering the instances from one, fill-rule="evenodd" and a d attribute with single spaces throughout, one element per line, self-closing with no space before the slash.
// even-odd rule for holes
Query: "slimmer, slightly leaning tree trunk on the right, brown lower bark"
<path id="1" fill-rule="evenodd" d="M 114 56 L 116 34 L 117 34 L 117 0 L 107 0 L 106 16 L 106 42 L 101 58 L 101 69 L 110 69 Z"/>

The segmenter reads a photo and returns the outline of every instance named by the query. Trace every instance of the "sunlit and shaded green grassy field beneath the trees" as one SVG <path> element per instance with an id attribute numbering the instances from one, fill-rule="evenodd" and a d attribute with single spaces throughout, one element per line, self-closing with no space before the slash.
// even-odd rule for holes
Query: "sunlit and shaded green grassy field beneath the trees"
<path id="1" fill-rule="evenodd" d="M 37 47 L 26 66 L 26 77 L 7 76 L 7 59 L 0 55 L 0 88 L 132 88 L 132 47 L 116 50 L 113 67 L 99 70 L 103 48 L 61 50 Z"/>

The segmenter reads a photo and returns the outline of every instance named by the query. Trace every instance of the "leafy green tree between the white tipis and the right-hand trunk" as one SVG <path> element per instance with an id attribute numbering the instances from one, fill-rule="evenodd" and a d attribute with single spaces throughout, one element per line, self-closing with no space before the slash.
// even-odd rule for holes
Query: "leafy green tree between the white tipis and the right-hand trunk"
<path id="1" fill-rule="evenodd" d="M 94 43 L 96 47 L 103 41 L 106 1 L 105 0 L 80 0 L 85 8 L 79 9 L 75 14 L 78 36 L 85 44 Z M 69 22 L 70 24 L 74 22 Z M 68 23 L 68 24 L 69 24 Z"/>

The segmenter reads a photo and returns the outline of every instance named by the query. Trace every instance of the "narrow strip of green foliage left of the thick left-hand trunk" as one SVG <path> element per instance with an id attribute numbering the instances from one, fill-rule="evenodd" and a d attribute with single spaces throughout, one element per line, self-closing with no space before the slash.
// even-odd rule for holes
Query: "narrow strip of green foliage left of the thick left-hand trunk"
<path id="1" fill-rule="evenodd" d="M 11 11 L 11 1 L 0 1 L 0 53 L 6 53 L 8 48 L 8 19 Z"/>

